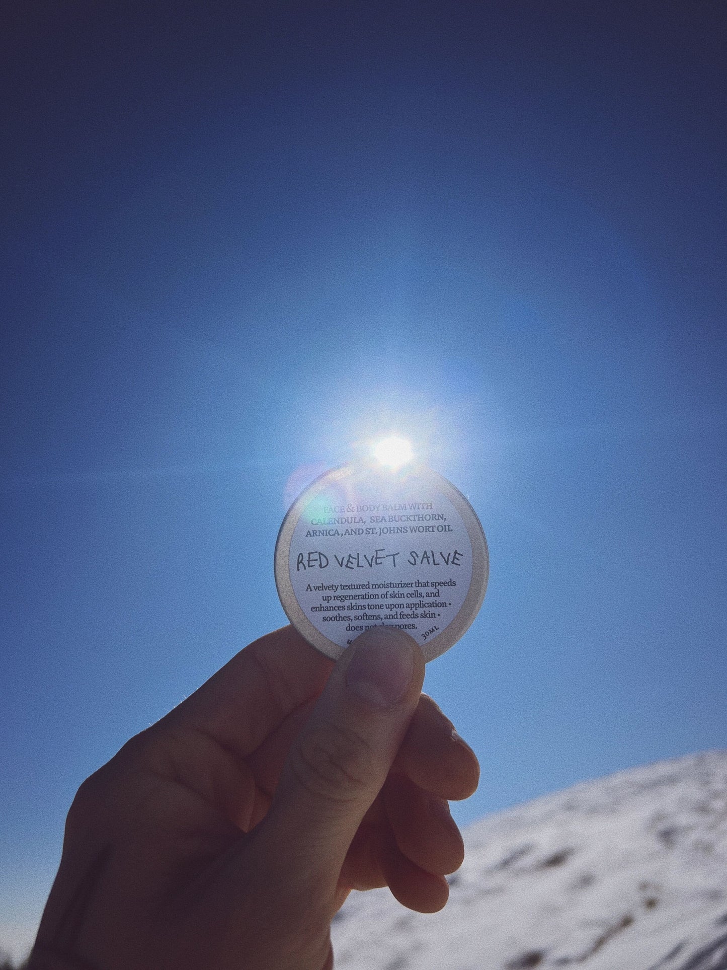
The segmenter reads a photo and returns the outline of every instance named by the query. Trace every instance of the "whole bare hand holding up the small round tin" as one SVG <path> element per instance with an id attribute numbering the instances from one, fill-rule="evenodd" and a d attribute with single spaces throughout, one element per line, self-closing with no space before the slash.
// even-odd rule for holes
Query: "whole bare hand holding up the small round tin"
<path id="1" fill-rule="evenodd" d="M 479 766 L 424 667 L 383 627 L 240 651 L 81 785 L 30 968 L 331 970 L 351 889 L 441 909 Z"/>

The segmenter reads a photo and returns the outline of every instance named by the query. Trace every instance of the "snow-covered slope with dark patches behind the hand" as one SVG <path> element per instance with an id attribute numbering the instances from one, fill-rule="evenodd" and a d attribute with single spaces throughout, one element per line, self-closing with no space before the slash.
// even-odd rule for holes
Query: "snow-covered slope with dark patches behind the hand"
<path id="1" fill-rule="evenodd" d="M 336 970 L 727 970 L 727 752 L 538 798 L 465 844 L 441 913 L 352 893 Z"/>

